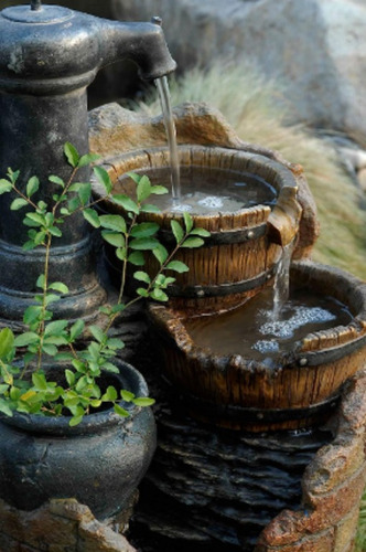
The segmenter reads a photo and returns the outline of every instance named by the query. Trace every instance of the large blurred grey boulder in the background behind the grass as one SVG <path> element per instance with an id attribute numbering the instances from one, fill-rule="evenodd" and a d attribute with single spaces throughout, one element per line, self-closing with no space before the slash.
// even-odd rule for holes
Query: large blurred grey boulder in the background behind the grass
<path id="1" fill-rule="evenodd" d="M 163 18 L 181 70 L 250 61 L 286 87 L 293 117 L 366 135 L 366 6 L 355 0 L 111 0 L 122 20 Z"/>

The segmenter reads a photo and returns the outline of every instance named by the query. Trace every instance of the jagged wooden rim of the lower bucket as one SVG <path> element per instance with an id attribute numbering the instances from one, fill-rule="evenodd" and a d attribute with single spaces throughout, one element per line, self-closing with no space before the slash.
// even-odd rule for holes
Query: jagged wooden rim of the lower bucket
<path id="1" fill-rule="evenodd" d="M 366 283 L 345 270 L 310 261 L 297 261 L 291 264 L 291 275 L 298 278 L 297 287 L 308 286 L 314 291 L 334 297 L 351 310 L 353 320 L 347 326 L 336 326 L 327 330 L 309 333 L 300 346 L 286 355 L 283 364 L 278 368 L 260 365 L 271 373 L 282 370 L 284 365 L 316 367 L 333 362 L 358 351 L 366 346 Z M 300 280 L 300 282 L 299 282 Z M 152 304 L 149 307 L 154 320 L 161 326 L 176 347 L 190 357 L 203 358 L 207 351 L 194 343 L 185 328 L 189 318 L 184 312 L 173 311 L 168 307 Z M 218 364 L 225 359 L 233 365 L 248 362 L 238 354 L 212 354 Z"/>

